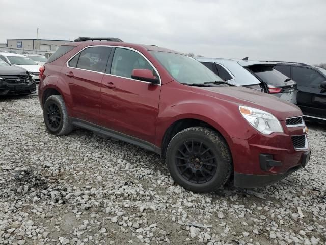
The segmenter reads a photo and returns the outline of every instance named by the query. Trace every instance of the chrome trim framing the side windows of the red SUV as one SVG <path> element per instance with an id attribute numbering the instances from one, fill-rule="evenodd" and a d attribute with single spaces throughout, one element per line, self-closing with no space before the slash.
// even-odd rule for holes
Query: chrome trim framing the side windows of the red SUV
<path id="1" fill-rule="evenodd" d="M 66 66 L 67 68 L 71 68 L 71 69 L 78 69 L 78 70 L 85 70 L 85 71 L 90 71 L 90 72 L 96 72 L 96 73 L 99 73 L 99 74 L 103 74 L 103 75 L 109 75 L 109 76 L 114 76 L 114 77 L 118 77 L 118 78 L 124 78 L 124 79 L 129 79 L 129 80 L 133 80 L 133 81 L 138 81 L 138 82 L 142 82 L 142 83 L 148 83 L 148 84 L 154 84 L 154 83 L 151 83 L 151 82 L 146 82 L 146 81 L 141 81 L 141 80 L 138 80 L 138 79 L 133 79 L 133 78 L 127 78 L 127 77 L 121 77 L 121 76 L 117 76 L 117 75 L 113 75 L 113 74 L 108 74 L 106 72 L 99 72 L 99 71 L 94 71 L 94 70 L 87 70 L 87 69 L 82 69 L 82 68 L 77 68 L 77 67 L 71 67 L 69 66 L 69 61 L 72 60 L 76 55 L 78 55 L 79 53 L 81 53 L 83 50 L 86 50 L 86 48 L 89 48 L 89 47 L 112 47 L 112 48 L 125 48 L 126 50 L 132 50 L 132 51 L 135 51 L 136 53 L 140 54 L 151 66 L 152 68 L 155 70 L 156 74 L 158 75 L 158 78 L 159 78 L 159 83 L 158 84 L 155 84 L 155 85 L 158 85 L 158 86 L 161 86 L 162 84 L 162 80 L 161 80 L 161 77 L 159 75 L 159 72 L 157 71 L 157 69 L 155 68 L 155 66 L 152 64 L 152 62 L 149 61 L 149 59 L 147 59 L 147 57 L 145 55 L 143 55 L 140 51 L 138 50 L 135 50 L 134 48 L 131 48 L 131 47 L 125 47 L 125 46 L 113 46 L 113 45 L 92 45 L 92 46 L 87 46 L 87 47 L 84 47 L 82 50 L 79 50 L 76 54 L 74 54 L 72 57 L 70 57 L 67 62 L 66 62 Z M 115 50 L 114 50 L 115 51 Z M 112 52 L 112 51 L 111 51 Z M 110 55 L 111 56 L 111 55 Z M 109 61 L 110 61 L 110 56 L 108 57 Z M 114 54 L 113 54 L 114 56 Z M 112 57 L 113 58 L 113 57 Z M 108 61 L 108 63 L 109 63 Z M 112 66 L 112 63 L 111 63 L 111 66 Z M 106 70 L 105 70 L 106 71 Z M 111 67 L 110 67 L 110 72 L 111 72 Z"/>

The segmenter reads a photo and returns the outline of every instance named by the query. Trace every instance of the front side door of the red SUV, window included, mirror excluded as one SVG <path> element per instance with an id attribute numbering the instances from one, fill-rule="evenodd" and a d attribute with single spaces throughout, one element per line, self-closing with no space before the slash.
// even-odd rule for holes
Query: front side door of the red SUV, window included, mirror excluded
<path id="1" fill-rule="evenodd" d="M 153 65 L 139 52 L 122 47 L 115 48 L 111 63 L 101 86 L 101 126 L 154 145 L 161 86 L 131 78 L 133 69 L 155 73 Z"/>

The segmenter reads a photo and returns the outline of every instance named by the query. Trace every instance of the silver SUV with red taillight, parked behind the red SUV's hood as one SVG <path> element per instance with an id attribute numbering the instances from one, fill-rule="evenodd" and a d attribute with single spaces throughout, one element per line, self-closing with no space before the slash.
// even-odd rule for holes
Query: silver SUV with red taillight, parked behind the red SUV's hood
<path id="1" fill-rule="evenodd" d="M 296 104 L 296 82 L 274 69 L 276 63 L 247 59 L 196 59 L 228 83 L 269 93 Z"/>

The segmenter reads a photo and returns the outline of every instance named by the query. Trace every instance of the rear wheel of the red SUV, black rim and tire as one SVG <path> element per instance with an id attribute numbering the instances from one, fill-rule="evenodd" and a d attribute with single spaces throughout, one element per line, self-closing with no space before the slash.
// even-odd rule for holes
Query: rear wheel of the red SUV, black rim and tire
<path id="1" fill-rule="evenodd" d="M 61 95 L 47 98 L 44 103 L 43 118 L 47 130 L 53 135 L 65 135 L 72 131 L 72 124 Z"/>

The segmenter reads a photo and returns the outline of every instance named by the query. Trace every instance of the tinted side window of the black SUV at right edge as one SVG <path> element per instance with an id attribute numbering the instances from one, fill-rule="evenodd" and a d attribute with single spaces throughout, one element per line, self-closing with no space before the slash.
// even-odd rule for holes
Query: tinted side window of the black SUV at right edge
<path id="1" fill-rule="evenodd" d="M 320 83 L 325 80 L 317 71 L 310 68 L 293 66 L 292 72 L 293 80 L 301 86 L 320 88 Z"/>

